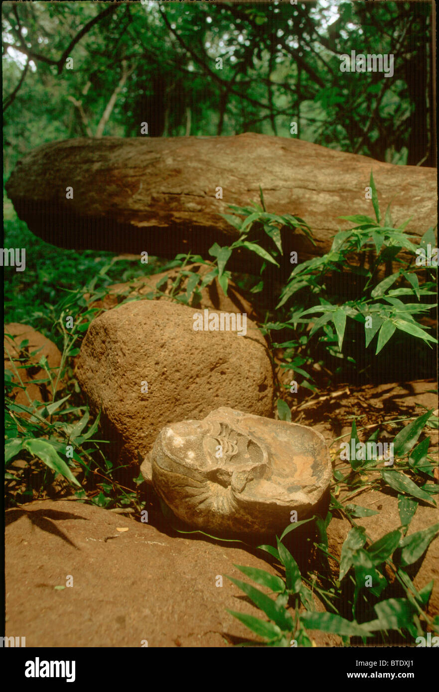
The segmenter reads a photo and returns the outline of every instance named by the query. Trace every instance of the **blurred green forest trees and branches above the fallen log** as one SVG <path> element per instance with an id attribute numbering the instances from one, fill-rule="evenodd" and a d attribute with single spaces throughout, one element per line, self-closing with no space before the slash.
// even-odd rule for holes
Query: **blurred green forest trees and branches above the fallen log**
<path id="1" fill-rule="evenodd" d="M 296 121 L 310 142 L 434 165 L 431 3 L 5 2 L 2 13 L 6 173 L 39 144 L 96 135 L 124 70 L 105 135 L 140 136 L 148 122 L 150 136 L 289 137 Z M 341 72 L 352 50 L 394 54 L 393 76 Z"/>

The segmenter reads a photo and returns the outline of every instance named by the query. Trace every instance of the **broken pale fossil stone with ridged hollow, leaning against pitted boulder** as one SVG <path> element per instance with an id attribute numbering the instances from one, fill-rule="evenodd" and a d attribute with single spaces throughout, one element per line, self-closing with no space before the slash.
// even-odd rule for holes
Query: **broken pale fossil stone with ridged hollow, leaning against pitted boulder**
<path id="1" fill-rule="evenodd" d="M 292 510 L 312 513 L 331 466 L 312 428 L 219 408 L 163 428 L 141 471 L 184 522 L 263 534 L 285 529 Z"/>

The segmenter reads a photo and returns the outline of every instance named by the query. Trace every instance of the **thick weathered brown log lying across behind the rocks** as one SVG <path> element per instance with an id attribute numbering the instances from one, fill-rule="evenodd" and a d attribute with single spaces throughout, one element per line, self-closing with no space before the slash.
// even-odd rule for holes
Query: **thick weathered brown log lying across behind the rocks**
<path id="1" fill-rule="evenodd" d="M 413 217 L 406 233 L 435 226 L 435 169 L 253 133 L 54 142 L 22 158 L 6 190 L 30 230 L 52 244 L 174 257 L 230 244 L 238 231 L 220 214 L 259 201 L 260 186 L 268 211 L 298 215 L 312 228 L 315 248 L 302 234 L 287 238 L 286 257 L 297 250 L 301 262 L 327 252 L 332 235 L 352 226 L 340 216 L 374 216 L 364 192 L 370 170 L 383 215 L 391 202 L 395 224 Z"/>

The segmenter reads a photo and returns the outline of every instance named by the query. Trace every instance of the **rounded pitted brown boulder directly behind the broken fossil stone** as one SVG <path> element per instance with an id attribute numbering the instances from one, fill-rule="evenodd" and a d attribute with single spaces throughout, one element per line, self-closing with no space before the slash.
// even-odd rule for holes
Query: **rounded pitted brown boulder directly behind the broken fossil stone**
<path id="1" fill-rule="evenodd" d="M 225 314 L 208 311 L 220 327 Z M 138 300 L 91 322 L 78 381 L 93 410 L 102 406 L 105 435 L 118 442 L 121 462 L 143 459 L 163 426 L 204 418 L 219 406 L 273 415 L 271 361 L 256 325 L 247 320 L 245 336 L 195 331 L 197 316 L 204 311 Z"/>

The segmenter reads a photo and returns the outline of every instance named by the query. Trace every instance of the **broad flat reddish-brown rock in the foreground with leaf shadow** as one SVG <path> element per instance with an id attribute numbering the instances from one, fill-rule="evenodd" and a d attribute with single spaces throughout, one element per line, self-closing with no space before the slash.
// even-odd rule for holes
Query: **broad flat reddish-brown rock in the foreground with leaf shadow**
<path id="1" fill-rule="evenodd" d="M 226 575 L 251 581 L 235 565 L 278 574 L 265 552 L 173 535 L 165 525 L 71 500 L 9 509 L 5 523 L 6 636 L 26 637 L 28 647 L 260 641 L 226 609 L 265 614 Z M 316 630 L 310 636 L 316 646 L 340 641 Z"/>

